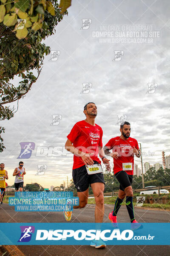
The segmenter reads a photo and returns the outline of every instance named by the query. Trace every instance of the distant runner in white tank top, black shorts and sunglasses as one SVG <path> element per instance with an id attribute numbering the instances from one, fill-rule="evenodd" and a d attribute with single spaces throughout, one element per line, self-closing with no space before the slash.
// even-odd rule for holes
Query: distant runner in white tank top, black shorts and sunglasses
<path id="1" fill-rule="evenodd" d="M 14 182 L 15 190 L 19 191 L 19 188 L 20 188 L 20 192 L 23 191 L 24 175 L 26 174 L 26 170 L 23 167 L 23 164 L 24 163 L 21 161 L 19 163 L 19 167 L 16 167 L 13 173 L 13 176 L 15 176 L 15 182 Z"/>

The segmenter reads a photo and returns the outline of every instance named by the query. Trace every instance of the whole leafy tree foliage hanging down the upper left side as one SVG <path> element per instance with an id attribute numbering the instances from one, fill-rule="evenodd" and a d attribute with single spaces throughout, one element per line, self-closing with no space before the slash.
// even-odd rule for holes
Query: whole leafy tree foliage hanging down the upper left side
<path id="1" fill-rule="evenodd" d="M 68 14 L 67 10 L 64 14 L 61 14 L 60 11 L 57 0 L 1 0 L 0 120 L 9 120 L 14 116 L 17 110 L 7 104 L 23 98 L 40 76 L 44 54 L 48 55 L 50 53 L 50 47 L 41 43 L 41 41 L 53 35 L 58 22 L 62 20 L 64 15 Z M 23 28 L 26 26 L 27 29 L 27 35 L 22 39 L 16 37 L 16 23 L 9 23 L 13 20 L 13 16 L 15 17 L 14 20 L 17 19 L 15 15 L 26 19 L 29 17 L 28 21 L 30 22 L 34 17 L 34 23 L 30 27 L 26 26 L 27 23 L 22 24 Z M 41 24 L 40 29 L 35 28 L 36 22 Z M 32 26 L 34 27 L 32 28 Z M 35 73 L 37 73 L 36 76 Z M 17 86 L 12 83 L 15 76 L 20 77 Z M 5 148 L 1 137 L 4 131 L 5 128 L 0 127 L 0 152 Z"/>

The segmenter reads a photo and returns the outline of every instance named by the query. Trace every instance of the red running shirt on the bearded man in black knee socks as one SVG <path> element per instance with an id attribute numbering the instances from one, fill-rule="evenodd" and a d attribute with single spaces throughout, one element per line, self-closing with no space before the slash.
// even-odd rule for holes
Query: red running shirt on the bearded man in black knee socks
<path id="1" fill-rule="evenodd" d="M 105 145 L 109 150 L 112 149 L 113 152 L 118 152 L 118 159 L 113 158 L 113 172 L 114 174 L 123 170 L 123 163 L 133 163 L 134 166 L 134 156 L 130 155 L 130 149 L 133 146 L 139 149 L 137 140 L 129 137 L 127 140 L 122 140 L 119 136 L 112 138 Z M 133 170 L 126 171 L 127 174 L 133 175 Z"/>

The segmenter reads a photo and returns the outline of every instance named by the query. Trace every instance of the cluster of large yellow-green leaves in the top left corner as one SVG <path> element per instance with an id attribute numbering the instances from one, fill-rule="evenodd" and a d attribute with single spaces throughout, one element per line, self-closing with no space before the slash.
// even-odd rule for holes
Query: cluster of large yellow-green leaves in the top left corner
<path id="1" fill-rule="evenodd" d="M 70 5 L 71 0 L 62 0 L 60 13 Z M 30 30 L 40 30 L 46 14 L 56 15 L 54 0 L 1 0 L 0 23 L 15 32 L 18 39 L 26 38 Z"/>

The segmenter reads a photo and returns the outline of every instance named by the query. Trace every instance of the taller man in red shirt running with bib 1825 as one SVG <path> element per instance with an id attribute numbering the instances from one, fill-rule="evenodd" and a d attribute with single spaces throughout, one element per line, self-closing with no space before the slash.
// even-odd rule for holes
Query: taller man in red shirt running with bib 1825
<path id="1" fill-rule="evenodd" d="M 79 197 L 79 206 L 74 206 L 74 208 L 83 208 L 88 203 L 88 187 L 90 185 L 96 201 L 95 222 L 101 223 L 104 215 L 103 192 L 105 181 L 98 154 L 103 163 L 107 165 L 106 168 L 108 170 L 110 170 L 110 160 L 104 157 L 102 128 L 95 124 L 95 118 L 97 116 L 95 103 L 89 102 L 86 104 L 83 113 L 86 119 L 74 125 L 65 143 L 65 149 L 74 154 L 72 174 Z M 86 168 L 87 166 L 88 168 Z M 68 212 L 65 212 L 66 220 L 71 219 L 70 216 L 68 218 L 68 214 Z M 102 244 L 94 244 L 92 246 L 96 248 L 105 247 L 105 243 L 102 242 Z"/>

